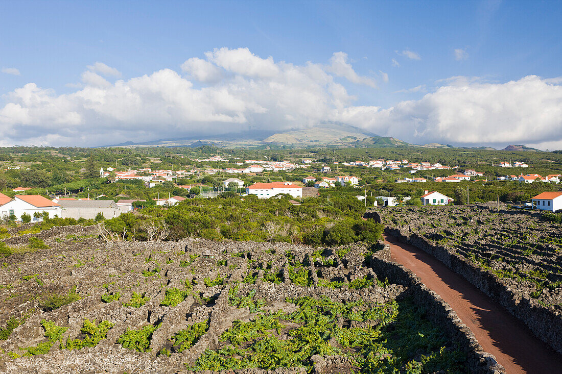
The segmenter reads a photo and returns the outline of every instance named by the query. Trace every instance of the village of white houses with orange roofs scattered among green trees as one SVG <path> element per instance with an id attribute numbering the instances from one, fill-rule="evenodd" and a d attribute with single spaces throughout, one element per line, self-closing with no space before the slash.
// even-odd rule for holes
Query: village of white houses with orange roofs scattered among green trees
<path id="1" fill-rule="evenodd" d="M 197 168 L 197 167 L 184 167 L 179 170 L 164 170 L 142 167 L 142 168 L 127 168 L 126 170 L 118 170 L 114 167 L 103 167 L 99 170 L 99 177 L 107 179 L 108 183 L 119 183 L 120 181 L 138 180 L 142 181 L 144 187 L 152 189 L 157 186 L 168 185 L 174 188 L 188 190 L 188 194 L 171 195 L 167 197 L 160 197 L 158 193 L 156 199 L 152 199 L 156 206 L 170 207 L 182 202 L 186 198 L 200 197 L 215 197 L 219 194 L 220 190 L 234 190 L 243 195 L 256 195 L 260 199 L 267 199 L 275 197 L 279 194 L 288 194 L 296 199 L 303 199 L 308 197 L 317 197 L 320 195 L 321 189 L 337 189 L 338 187 L 349 186 L 356 189 L 362 189 L 365 184 L 361 182 L 366 176 L 369 176 L 370 168 L 377 168 L 385 172 L 405 171 L 407 175 L 412 177 L 400 177 L 394 179 L 396 184 L 400 183 L 427 183 L 428 178 L 418 176 L 415 174 L 427 171 L 455 171 L 455 174 L 448 176 L 435 176 L 430 178 L 431 181 L 436 183 L 461 183 L 468 181 L 470 183 L 485 183 L 488 179 L 484 176 L 484 172 L 467 168 L 460 170 L 459 166 L 443 165 L 442 163 L 418 162 L 411 163 L 407 159 L 400 160 L 386 160 L 374 159 L 371 161 L 352 161 L 352 162 L 334 162 L 332 164 L 319 163 L 312 159 L 302 158 L 300 162 L 291 161 L 271 161 L 266 159 L 242 159 L 239 157 L 227 159 L 221 156 L 212 156 L 208 158 L 196 158 L 193 162 L 215 162 L 230 164 L 234 163 L 236 167 L 225 166 L 223 168 Z M 527 168 L 529 165 L 524 162 L 499 162 L 492 163 L 493 167 L 497 168 Z M 355 175 L 338 175 L 339 168 L 361 168 L 361 178 Z M 16 168 L 16 167 L 11 167 Z M 19 167 L 17 167 L 19 168 Z M 351 168 L 351 169 L 350 169 Z M 10 167 L 8 167 L 10 169 Z M 311 175 L 302 177 L 300 181 L 257 181 L 251 182 L 248 177 L 261 176 L 266 177 L 269 174 L 279 172 L 293 172 L 295 170 L 302 170 L 302 172 L 309 172 Z M 179 184 L 178 180 L 185 180 L 186 178 L 194 176 L 215 176 L 221 180 L 221 188 L 207 188 L 206 194 L 197 193 L 197 189 L 205 188 L 201 183 L 192 184 Z M 239 177 L 226 177 L 220 176 L 239 175 Z M 242 179 L 241 179 L 242 178 Z M 550 174 L 545 177 L 539 174 L 526 174 L 522 173 L 511 175 L 500 175 L 495 178 L 496 181 L 510 181 L 519 184 L 532 184 L 532 183 L 554 183 L 558 184 L 562 180 L 560 174 Z M 76 197 L 66 195 L 49 195 L 49 198 L 42 194 L 28 194 L 33 190 L 31 187 L 19 186 L 12 191 L 16 193 L 13 198 L 5 194 L 0 195 L 0 216 L 13 217 L 17 221 L 24 217 L 30 217 L 31 221 L 42 220 L 43 215 L 49 217 L 61 218 L 84 218 L 94 219 L 105 218 L 111 219 L 121 215 L 121 213 L 133 212 L 138 203 L 146 202 L 146 199 L 131 199 L 126 194 L 117 195 L 116 197 L 107 197 L 103 194 L 90 195 L 87 197 Z M 372 193 L 371 193 L 372 194 Z M 538 194 L 527 203 L 528 207 L 556 211 L 560 207 L 562 193 L 549 192 L 546 195 Z M 355 194 L 359 200 L 365 200 L 366 193 Z M 377 195 L 375 196 L 374 205 L 382 204 L 383 206 L 397 206 L 406 204 L 411 197 L 393 197 L 392 195 Z M 439 191 L 424 190 L 422 196 L 418 199 L 421 205 L 447 205 L 455 202 L 454 198 L 448 197 Z M 410 203 L 414 203 L 411 200 Z M 409 203 L 408 203 L 409 204 Z M 417 204 L 417 203 L 416 203 Z"/>

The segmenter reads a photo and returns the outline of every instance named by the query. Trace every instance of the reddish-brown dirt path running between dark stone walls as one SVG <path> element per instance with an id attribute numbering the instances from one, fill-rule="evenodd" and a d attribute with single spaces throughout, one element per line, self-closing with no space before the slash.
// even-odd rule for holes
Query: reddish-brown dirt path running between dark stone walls
<path id="1" fill-rule="evenodd" d="M 445 300 L 470 327 L 486 352 L 496 356 L 508 374 L 562 373 L 560 355 L 547 348 L 514 316 L 462 276 L 423 250 L 385 235 L 392 258 L 413 271 Z"/>

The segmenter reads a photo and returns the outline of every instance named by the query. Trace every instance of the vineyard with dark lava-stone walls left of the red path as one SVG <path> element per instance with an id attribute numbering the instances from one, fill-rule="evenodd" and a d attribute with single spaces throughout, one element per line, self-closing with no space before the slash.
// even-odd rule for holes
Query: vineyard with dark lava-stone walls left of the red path
<path id="1" fill-rule="evenodd" d="M 382 245 L 2 243 L 1 372 L 504 372 Z"/>

